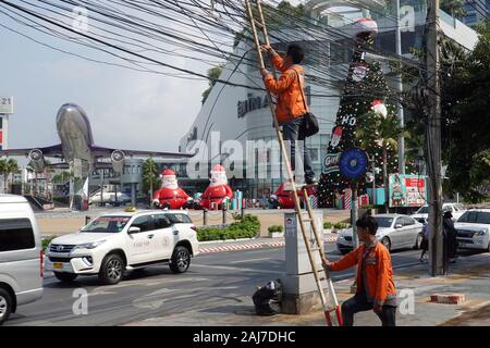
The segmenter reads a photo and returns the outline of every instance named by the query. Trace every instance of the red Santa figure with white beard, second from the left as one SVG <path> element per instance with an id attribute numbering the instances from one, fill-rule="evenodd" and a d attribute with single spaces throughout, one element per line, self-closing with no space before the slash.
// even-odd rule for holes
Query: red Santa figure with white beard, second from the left
<path id="1" fill-rule="evenodd" d="M 222 209 L 223 204 L 233 198 L 233 190 L 228 186 L 226 171 L 220 164 L 215 165 L 208 188 L 200 199 L 200 207 L 206 209 Z"/>

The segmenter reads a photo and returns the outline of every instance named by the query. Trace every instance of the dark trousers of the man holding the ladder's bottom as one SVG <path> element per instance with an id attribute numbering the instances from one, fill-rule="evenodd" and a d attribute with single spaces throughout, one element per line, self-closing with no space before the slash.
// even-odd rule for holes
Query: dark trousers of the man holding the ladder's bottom
<path id="1" fill-rule="evenodd" d="M 369 303 L 366 294 L 357 294 L 342 303 L 342 318 L 344 326 L 354 324 L 354 314 L 372 310 L 372 303 Z M 383 306 L 380 313 L 377 313 L 383 326 L 396 326 L 395 315 L 396 307 Z"/>

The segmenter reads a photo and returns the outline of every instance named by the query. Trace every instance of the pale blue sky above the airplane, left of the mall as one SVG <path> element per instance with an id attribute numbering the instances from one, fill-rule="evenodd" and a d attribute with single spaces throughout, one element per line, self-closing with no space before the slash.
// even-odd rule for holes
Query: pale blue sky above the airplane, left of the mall
<path id="1" fill-rule="evenodd" d="M 4 16 L 2 24 L 33 33 Z M 3 20 L 7 21 L 3 21 Z M 42 42 L 74 51 L 73 45 L 35 35 Z M 59 142 L 56 115 L 65 102 L 88 114 L 95 141 L 117 148 L 176 151 L 200 109 L 207 82 L 134 72 L 89 62 L 40 46 L 0 27 L 0 95 L 14 96 L 10 148 Z M 103 52 L 75 51 L 102 61 Z M 172 58 L 168 63 L 206 72 L 206 66 Z"/>

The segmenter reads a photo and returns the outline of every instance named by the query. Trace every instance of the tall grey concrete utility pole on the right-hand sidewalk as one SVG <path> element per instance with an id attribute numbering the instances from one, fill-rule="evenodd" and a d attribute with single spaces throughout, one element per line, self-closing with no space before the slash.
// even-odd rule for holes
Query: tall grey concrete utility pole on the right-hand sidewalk
<path id="1" fill-rule="evenodd" d="M 444 275 L 442 235 L 442 163 L 441 163 L 441 97 L 439 80 L 439 0 L 429 1 L 427 23 L 427 84 L 430 112 L 428 117 L 429 174 L 429 265 L 430 275 Z"/>

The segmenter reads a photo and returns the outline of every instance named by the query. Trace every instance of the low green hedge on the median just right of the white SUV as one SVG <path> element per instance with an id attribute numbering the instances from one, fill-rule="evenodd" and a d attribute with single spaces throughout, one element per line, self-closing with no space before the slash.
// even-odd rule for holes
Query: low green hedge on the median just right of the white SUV
<path id="1" fill-rule="evenodd" d="M 282 226 L 281 226 L 282 227 Z M 246 214 L 242 221 L 232 223 L 228 227 L 200 227 L 197 231 L 199 241 L 253 238 L 260 232 L 257 216 Z"/>

